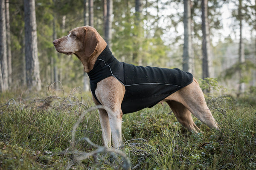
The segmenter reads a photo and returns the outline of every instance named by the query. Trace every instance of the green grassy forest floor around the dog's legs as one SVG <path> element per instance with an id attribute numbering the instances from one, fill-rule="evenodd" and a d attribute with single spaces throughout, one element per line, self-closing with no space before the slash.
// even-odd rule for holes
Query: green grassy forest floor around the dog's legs
<path id="1" fill-rule="evenodd" d="M 204 133 L 187 132 L 168 105 L 126 114 L 119 153 L 100 147 L 98 113 L 87 111 L 89 93 L 12 93 L 0 96 L 0 170 L 119 170 L 127 169 L 126 157 L 134 170 L 256 169 L 255 94 L 208 96 L 220 130 L 194 119 Z"/>

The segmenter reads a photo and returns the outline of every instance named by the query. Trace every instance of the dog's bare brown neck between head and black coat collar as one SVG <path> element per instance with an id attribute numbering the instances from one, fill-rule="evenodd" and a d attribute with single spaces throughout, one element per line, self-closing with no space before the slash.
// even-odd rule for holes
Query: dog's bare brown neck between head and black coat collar
<path id="1" fill-rule="evenodd" d="M 84 54 L 84 51 L 76 52 L 75 55 L 77 58 L 80 59 L 80 61 L 84 65 L 84 71 L 86 73 L 89 73 L 93 69 L 95 62 L 99 57 L 99 54 L 102 53 L 102 51 L 106 48 L 106 46 L 107 46 L 107 43 L 104 40 L 100 41 L 94 53 L 90 57 L 86 57 L 86 55 Z"/>

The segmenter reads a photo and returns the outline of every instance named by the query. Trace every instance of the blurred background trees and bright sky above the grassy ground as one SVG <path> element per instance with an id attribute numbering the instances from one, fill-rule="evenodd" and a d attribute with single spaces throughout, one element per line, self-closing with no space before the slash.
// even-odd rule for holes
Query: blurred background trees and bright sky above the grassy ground
<path id="1" fill-rule="evenodd" d="M 1 0 L 1 91 L 29 87 L 25 2 Z M 88 90 L 79 60 L 52 45 L 84 25 L 95 27 L 120 61 L 217 77 L 237 94 L 256 86 L 253 0 L 35 0 L 35 16 L 42 88 L 60 81 Z"/>

